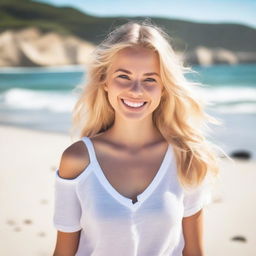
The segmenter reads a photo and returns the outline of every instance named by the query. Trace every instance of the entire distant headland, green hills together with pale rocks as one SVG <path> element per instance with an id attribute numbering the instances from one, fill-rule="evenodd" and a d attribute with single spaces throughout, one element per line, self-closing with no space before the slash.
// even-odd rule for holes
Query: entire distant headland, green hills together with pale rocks
<path id="1" fill-rule="evenodd" d="M 74 8 L 29 0 L 0 2 L 0 67 L 86 64 L 117 25 L 146 17 L 95 17 Z M 148 18 L 148 17 L 147 17 Z M 256 63 L 256 29 L 150 17 L 189 65 Z"/>

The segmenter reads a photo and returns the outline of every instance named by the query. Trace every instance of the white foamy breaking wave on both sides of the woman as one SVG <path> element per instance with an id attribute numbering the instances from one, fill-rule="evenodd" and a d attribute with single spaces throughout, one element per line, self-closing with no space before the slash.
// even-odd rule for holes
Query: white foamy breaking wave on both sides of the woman
<path id="1" fill-rule="evenodd" d="M 222 113 L 256 113 L 256 88 L 197 88 L 207 105 Z M 0 106 L 5 109 L 47 109 L 70 112 L 77 96 L 72 90 L 33 90 L 13 88 L 0 94 Z"/>

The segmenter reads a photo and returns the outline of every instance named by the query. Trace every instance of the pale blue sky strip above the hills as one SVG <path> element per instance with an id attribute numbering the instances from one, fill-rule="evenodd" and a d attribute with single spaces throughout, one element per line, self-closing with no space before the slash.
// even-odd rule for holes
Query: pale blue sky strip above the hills
<path id="1" fill-rule="evenodd" d="M 160 16 L 195 22 L 232 22 L 256 28 L 256 0 L 34 0 L 72 6 L 97 16 Z"/>

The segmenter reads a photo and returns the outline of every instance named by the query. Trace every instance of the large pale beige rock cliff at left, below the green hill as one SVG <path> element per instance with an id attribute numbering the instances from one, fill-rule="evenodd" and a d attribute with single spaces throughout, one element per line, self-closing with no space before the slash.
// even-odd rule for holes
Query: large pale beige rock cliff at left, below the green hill
<path id="1" fill-rule="evenodd" d="M 42 34 L 36 28 L 0 34 L 0 66 L 59 66 L 86 64 L 95 48 L 74 36 Z"/>

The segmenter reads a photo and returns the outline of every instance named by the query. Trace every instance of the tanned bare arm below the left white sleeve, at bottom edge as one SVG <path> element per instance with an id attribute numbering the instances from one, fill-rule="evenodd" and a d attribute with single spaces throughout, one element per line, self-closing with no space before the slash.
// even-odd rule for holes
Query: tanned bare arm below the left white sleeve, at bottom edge
<path id="1" fill-rule="evenodd" d="M 57 231 L 57 241 L 53 256 L 74 256 L 79 244 L 81 231 L 66 233 Z"/>

